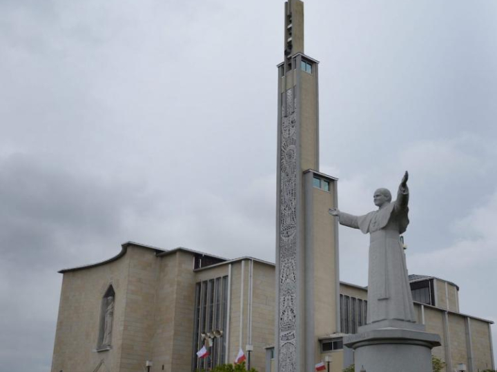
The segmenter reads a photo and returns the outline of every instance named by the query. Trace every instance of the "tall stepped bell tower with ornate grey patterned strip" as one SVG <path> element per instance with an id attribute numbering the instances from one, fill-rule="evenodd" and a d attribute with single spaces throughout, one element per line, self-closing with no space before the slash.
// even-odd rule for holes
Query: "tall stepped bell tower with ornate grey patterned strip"
<path id="1" fill-rule="evenodd" d="M 340 331 L 337 179 L 319 172 L 318 61 L 304 54 L 304 3 L 284 4 L 278 68 L 278 372 L 313 371 L 320 336 Z"/>

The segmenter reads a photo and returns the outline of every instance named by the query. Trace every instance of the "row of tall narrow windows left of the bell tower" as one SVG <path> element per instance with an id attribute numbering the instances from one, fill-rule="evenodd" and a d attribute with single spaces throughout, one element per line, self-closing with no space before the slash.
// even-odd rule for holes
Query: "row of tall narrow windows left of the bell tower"
<path id="1" fill-rule="evenodd" d="M 227 311 L 228 276 L 197 282 L 192 371 L 209 370 L 218 364 L 224 364 Z M 206 358 L 199 359 L 196 353 L 204 344 L 209 354 Z"/>

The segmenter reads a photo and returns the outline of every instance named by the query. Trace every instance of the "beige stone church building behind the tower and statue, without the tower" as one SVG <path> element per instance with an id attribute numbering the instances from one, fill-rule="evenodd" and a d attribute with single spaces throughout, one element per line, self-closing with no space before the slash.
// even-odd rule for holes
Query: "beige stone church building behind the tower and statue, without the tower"
<path id="1" fill-rule="evenodd" d="M 240 348 L 248 356 L 247 345 L 251 366 L 275 370 L 272 262 L 126 242 L 109 260 L 60 272 L 52 372 L 146 371 L 147 362 L 150 372 L 208 370 L 233 362 Z M 494 369 L 492 322 L 459 312 L 458 286 L 432 276 L 409 280 L 418 322 L 442 338 L 433 354 L 446 371 Z M 353 362 L 343 336 L 367 322 L 367 288 L 340 282 L 339 298 L 342 331 L 317 338 L 333 372 Z M 204 344 L 209 355 L 197 358 Z"/>

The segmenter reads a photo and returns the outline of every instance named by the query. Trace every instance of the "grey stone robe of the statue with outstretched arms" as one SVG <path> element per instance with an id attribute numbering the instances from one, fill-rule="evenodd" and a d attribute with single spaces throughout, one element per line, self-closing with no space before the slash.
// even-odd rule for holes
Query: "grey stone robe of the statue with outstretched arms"
<path id="1" fill-rule="evenodd" d="M 364 216 L 340 212 L 340 225 L 369 234 L 367 322 L 416 322 L 400 234 L 409 225 L 409 190 L 399 187 L 397 200 Z"/>

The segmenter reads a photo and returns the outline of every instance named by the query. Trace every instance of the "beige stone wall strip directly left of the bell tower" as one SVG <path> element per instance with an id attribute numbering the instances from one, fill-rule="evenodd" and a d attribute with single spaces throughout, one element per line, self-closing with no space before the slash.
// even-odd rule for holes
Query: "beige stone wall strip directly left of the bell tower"
<path id="1" fill-rule="evenodd" d="M 254 262 L 252 293 L 252 344 L 251 366 L 257 371 L 266 370 L 266 350 L 275 341 L 275 269 Z"/>

